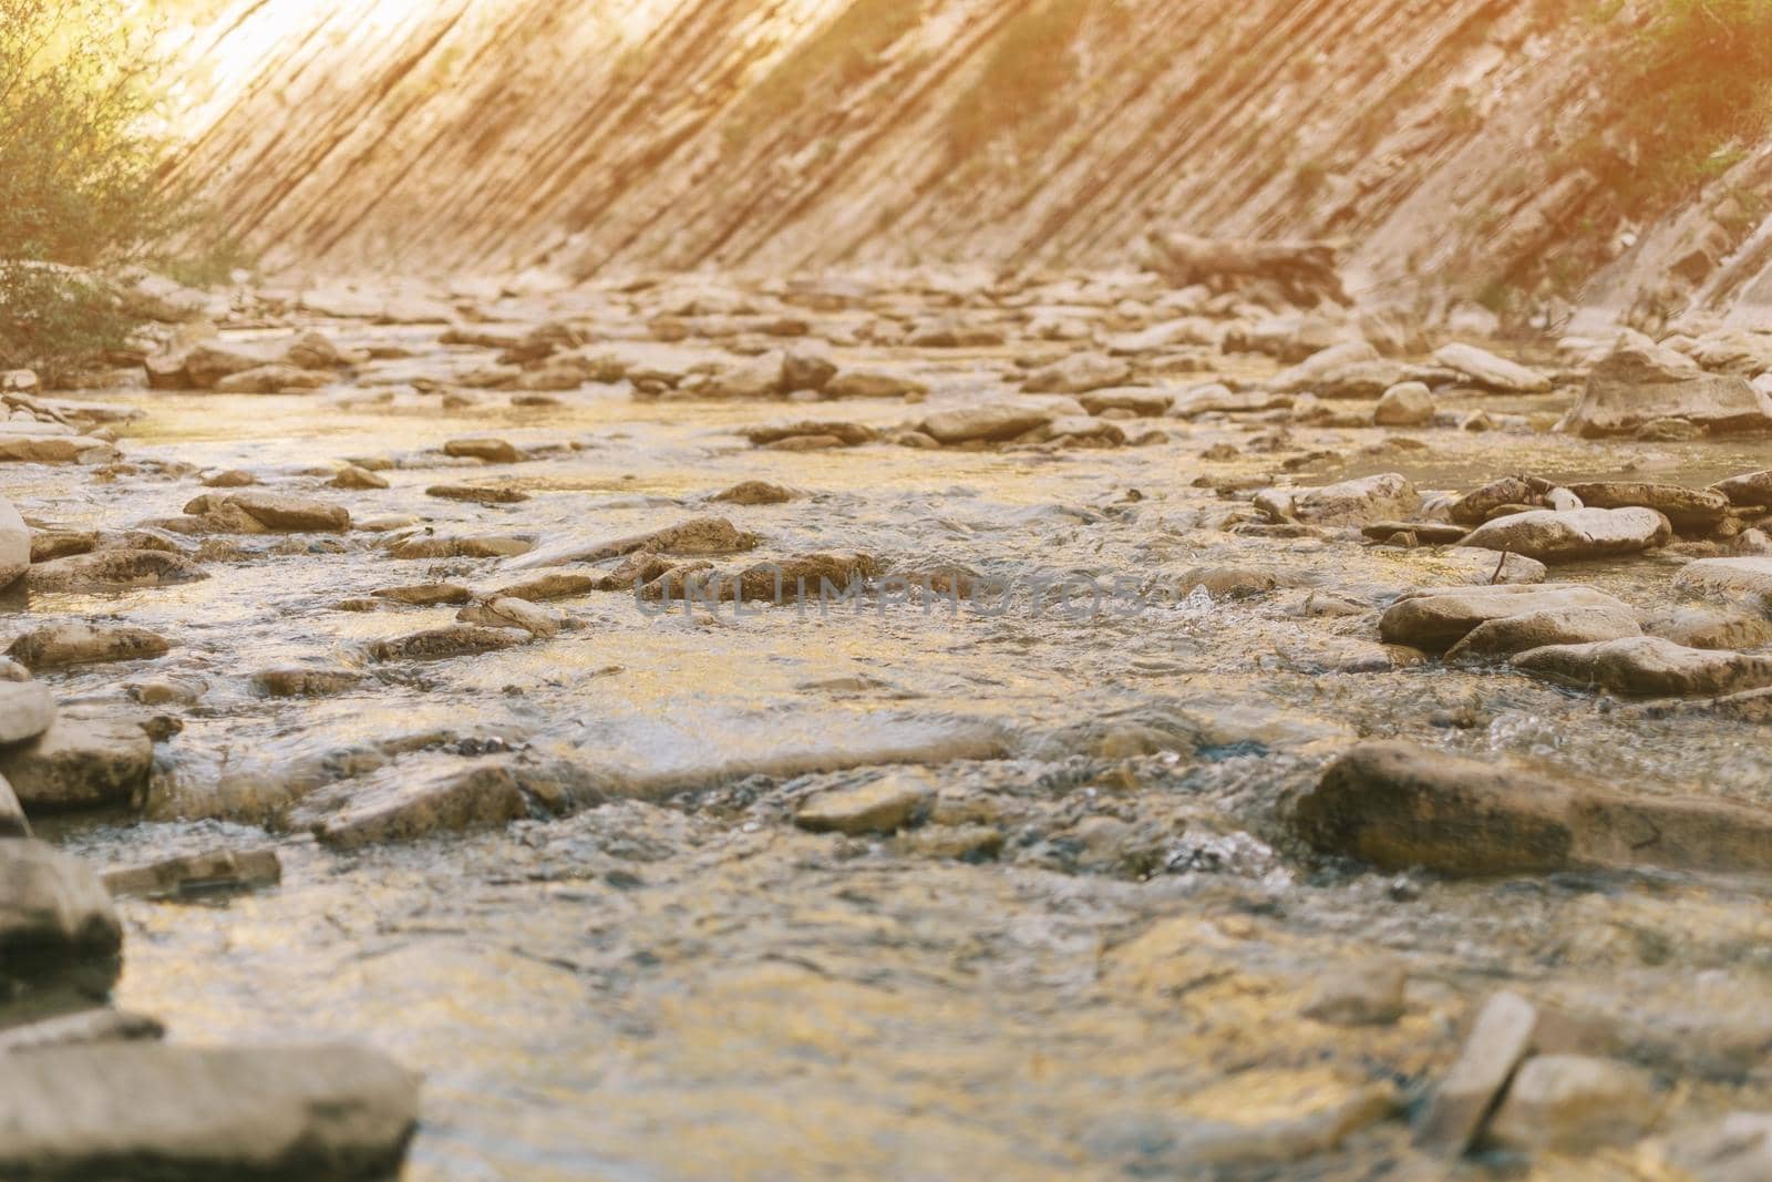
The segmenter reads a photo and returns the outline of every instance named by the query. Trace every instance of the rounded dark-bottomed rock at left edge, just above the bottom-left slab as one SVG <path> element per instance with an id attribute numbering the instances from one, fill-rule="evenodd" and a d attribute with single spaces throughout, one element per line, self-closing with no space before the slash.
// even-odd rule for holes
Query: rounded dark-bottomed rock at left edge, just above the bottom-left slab
<path id="1" fill-rule="evenodd" d="M 119 948 L 122 925 L 92 870 L 43 842 L 0 840 L 0 980 L 103 960 Z M 11 1072 L 0 1070 L 0 1088 Z M 11 1129 L 7 1115 L 0 1104 L 0 1127 Z M 0 1138 L 11 1139 L 11 1131 Z"/>

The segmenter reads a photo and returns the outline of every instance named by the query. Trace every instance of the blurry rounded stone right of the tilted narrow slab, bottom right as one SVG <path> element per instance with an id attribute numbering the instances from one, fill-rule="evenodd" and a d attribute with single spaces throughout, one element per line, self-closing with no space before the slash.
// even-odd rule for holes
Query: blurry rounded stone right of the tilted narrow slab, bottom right
<path id="1" fill-rule="evenodd" d="M 1527 1152 L 1589 1152 L 1634 1143 L 1659 1108 L 1655 1085 L 1641 1069 L 1584 1054 L 1540 1054 L 1515 1072 L 1488 1138 Z"/>

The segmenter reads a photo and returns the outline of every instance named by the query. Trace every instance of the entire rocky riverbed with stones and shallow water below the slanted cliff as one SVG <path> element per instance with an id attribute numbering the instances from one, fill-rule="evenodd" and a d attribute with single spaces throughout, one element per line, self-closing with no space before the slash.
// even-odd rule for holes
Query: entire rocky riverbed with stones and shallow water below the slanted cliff
<path id="1" fill-rule="evenodd" d="M 156 294 L 0 431 L 55 1086 L 358 1104 L 310 1178 L 1772 1173 L 1772 337 Z"/>

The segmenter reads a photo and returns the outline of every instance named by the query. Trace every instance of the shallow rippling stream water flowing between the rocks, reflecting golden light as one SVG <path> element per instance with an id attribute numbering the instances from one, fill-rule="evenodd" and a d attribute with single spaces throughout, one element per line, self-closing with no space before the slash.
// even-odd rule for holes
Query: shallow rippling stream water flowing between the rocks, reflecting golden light
<path id="1" fill-rule="evenodd" d="M 1008 353 L 865 353 L 929 379 L 920 408 L 638 402 L 626 386 L 447 408 L 400 383 L 486 353 L 443 351 L 434 330 L 326 328 L 420 356 L 303 397 L 83 395 L 142 411 L 122 429 L 138 470 L 18 468 L 7 496 L 39 521 L 122 528 L 177 516 L 202 491 L 167 461 L 248 468 L 360 521 L 415 514 L 542 546 L 714 514 L 762 539 L 737 565 L 863 551 L 886 569 L 960 564 L 1017 587 L 1123 579 L 1129 594 L 1193 567 L 1279 581 L 1239 601 L 1155 595 L 1139 611 L 1108 594 L 1100 613 L 1028 595 L 999 613 L 943 597 L 661 613 L 606 592 L 563 601 L 578 626 L 556 640 L 422 666 L 377 666 L 363 645 L 447 624 L 454 606 L 338 604 L 399 583 L 486 587 L 521 560 L 397 562 L 361 530 L 250 537 L 202 583 L 16 603 L 18 629 L 122 617 L 175 643 L 151 666 L 44 675 L 64 702 L 117 698 L 149 672 L 207 688 L 159 748 L 145 819 L 64 819 L 44 826 L 51 836 L 99 865 L 216 845 L 284 858 L 275 890 L 122 904 L 119 1005 L 188 1042 L 353 1038 L 395 1054 L 427 1079 L 409 1177 L 1168 1177 L 1203 1131 L 1294 1120 L 1375 1079 L 1409 1093 L 1504 982 L 1628 1030 L 1632 1053 L 1678 1081 L 1682 1120 L 1772 1100 L 1758 1070 L 1772 1035 L 1761 884 L 1391 877 L 1304 858 L 1279 824 L 1361 737 L 1547 760 L 1628 792 L 1772 803 L 1763 730 L 1648 718 L 1504 670 L 1393 661 L 1377 608 L 1411 587 L 1487 581 L 1492 556 L 1239 535 L 1247 507 L 1193 486 L 1318 450 L 1329 457 L 1302 468 L 1304 484 L 1375 471 L 1423 489 L 1510 471 L 1701 484 L 1767 466 L 1763 450 L 1449 429 L 1409 432 L 1425 443 L 1409 450 L 1396 432 L 1292 424 L 1278 455 L 1205 463 L 1205 447 L 1274 424 L 1162 420 L 1170 441 L 1115 450 L 790 454 L 734 431 L 789 416 L 888 427 L 1021 397 L 1003 385 Z M 1469 400 L 1533 422 L 1565 404 Z M 535 459 L 436 450 L 466 436 Z M 315 466 L 344 457 L 395 461 L 392 487 L 324 487 Z M 532 498 L 425 496 L 443 480 Z M 804 496 L 705 503 L 739 480 Z M 1671 606 L 1675 562 L 1559 578 Z M 367 679 L 321 700 L 252 689 L 257 670 L 305 661 Z M 390 741 L 409 753 L 377 782 L 525 748 L 595 769 L 613 799 L 360 851 L 289 831 L 291 769 Z M 930 767 L 930 824 L 895 838 L 792 824 L 797 803 L 882 764 Z M 1377 955 L 1409 968 L 1400 1023 L 1301 1017 L 1324 973 Z M 1285 1177 L 1403 1168 L 1421 1163 L 1391 1122 Z"/>

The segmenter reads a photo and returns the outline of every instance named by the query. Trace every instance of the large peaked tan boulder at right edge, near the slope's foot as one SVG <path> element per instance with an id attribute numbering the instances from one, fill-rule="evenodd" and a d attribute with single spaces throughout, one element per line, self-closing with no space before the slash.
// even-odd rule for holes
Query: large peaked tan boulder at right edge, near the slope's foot
<path id="1" fill-rule="evenodd" d="M 1706 374 L 1646 338 L 1620 342 L 1588 376 L 1581 402 L 1558 431 L 1593 439 L 1683 418 L 1712 434 L 1772 431 L 1772 397 L 1744 377 Z"/>

